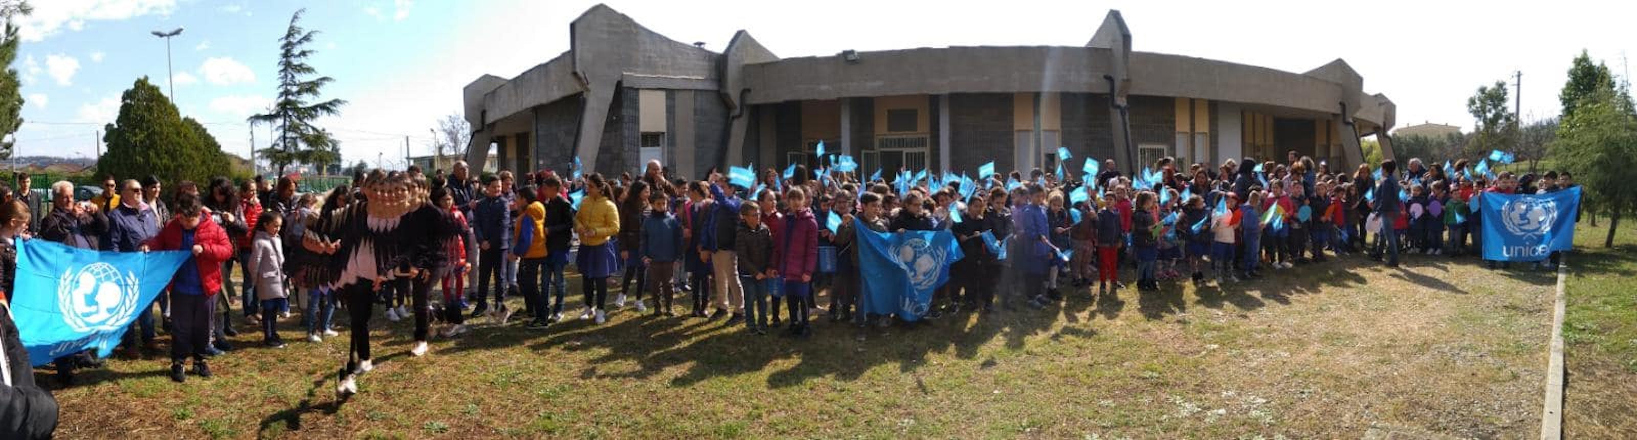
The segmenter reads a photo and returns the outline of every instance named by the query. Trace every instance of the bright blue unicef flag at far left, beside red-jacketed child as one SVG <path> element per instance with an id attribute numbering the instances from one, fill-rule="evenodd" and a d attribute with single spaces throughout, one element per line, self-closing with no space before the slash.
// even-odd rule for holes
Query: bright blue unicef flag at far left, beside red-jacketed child
<path id="1" fill-rule="evenodd" d="M 108 357 L 138 312 L 159 296 L 188 252 L 97 252 L 16 242 L 11 317 L 36 365 L 97 348 Z"/>

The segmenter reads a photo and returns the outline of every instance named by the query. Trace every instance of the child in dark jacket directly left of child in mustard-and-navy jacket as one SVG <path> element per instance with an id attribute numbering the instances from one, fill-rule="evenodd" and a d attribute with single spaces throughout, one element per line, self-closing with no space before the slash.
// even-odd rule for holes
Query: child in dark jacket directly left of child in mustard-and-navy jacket
<path id="1" fill-rule="evenodd" d="M 458 170 L 458 168 L 457 168 Z M 494 306 L 506 309 L 506 250 L 511 249 L 511 203 L 504 195 L 498 177 L 483 178 L 483 200 L 471 208 L 471 232 L 478 239 L 478 306 L 471 316 L 483 316 L 489 309 L 488 288 L 494 280 Z"/>

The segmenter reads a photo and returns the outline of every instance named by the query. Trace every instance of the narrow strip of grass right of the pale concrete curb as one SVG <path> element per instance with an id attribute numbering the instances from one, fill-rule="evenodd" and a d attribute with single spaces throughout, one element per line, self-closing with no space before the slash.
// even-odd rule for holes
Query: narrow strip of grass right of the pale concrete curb
<path id="1" fill-rule="evenodd" d="M 1604 249 L 1608 222 L 1575 231 L 1565 286 L 1563 432 L 1573 438 L 1637 437 L 1637 231 L 1629 221 Z"/>

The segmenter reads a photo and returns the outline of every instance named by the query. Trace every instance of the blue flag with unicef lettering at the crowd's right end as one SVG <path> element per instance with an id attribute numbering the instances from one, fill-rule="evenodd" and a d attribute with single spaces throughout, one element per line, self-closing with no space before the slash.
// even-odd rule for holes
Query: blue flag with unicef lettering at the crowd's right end
<path id="1" fill-rule="evenodd" d="M 1483 258 L 1539 262 L 1575 244 L 1580 188 L 1545 195 L 1483 193 Z"/>

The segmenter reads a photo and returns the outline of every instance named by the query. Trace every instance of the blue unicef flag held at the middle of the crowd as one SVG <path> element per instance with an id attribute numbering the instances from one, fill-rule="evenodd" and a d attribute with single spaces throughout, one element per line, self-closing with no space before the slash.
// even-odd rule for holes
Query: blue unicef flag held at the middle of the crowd
<path id="1" fill-rule="evenodd" d="M 920 319 L 931 306 L 931 291 L 949 281 L 949 265 L 964 257 L 949 231 L 876 232 L 863 222 L 855 227 L 863 239 L 858 267 L 864 312 Z"/>

